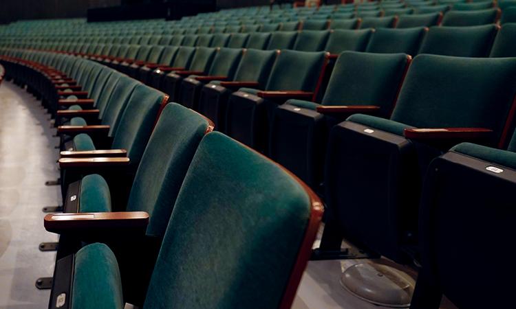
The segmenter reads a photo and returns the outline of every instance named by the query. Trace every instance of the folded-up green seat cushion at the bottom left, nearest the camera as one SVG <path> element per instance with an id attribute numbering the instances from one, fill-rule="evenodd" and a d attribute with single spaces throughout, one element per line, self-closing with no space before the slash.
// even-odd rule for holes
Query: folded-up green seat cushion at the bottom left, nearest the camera
<path id="1" fill-rule="evenodd" d="M 105 244 L 75 254 L 72 309 L 123 309 L 122 282 L 114 253 Z"/>

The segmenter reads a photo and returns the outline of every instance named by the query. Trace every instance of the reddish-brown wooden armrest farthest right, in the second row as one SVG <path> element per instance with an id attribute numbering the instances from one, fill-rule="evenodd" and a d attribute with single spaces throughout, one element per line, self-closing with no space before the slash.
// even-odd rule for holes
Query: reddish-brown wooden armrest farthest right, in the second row
<path id="1" fill-rule="evenodd" d="M 493 130 L 486 128 L 406 128 L 407 139 L 484 139 Z"/>

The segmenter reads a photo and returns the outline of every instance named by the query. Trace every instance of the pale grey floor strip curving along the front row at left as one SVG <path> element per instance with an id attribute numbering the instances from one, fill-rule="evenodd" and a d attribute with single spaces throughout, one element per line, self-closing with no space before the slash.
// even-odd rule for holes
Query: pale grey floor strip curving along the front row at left
<path id="1" fill-rule="evenodd" d="M 37 277 L 52 276 L 55 253 L 40 242 L 57 236 L 43 227 L 42 207 L 61 204 L 55 129 L 41 102 L 4 81 L 0 86 L 0 308 L 46 308 L 50 290 Z"/>

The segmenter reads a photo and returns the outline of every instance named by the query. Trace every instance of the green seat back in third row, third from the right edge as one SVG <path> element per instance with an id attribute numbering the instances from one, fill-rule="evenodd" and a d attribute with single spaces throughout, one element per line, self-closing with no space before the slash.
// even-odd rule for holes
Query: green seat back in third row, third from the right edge
<path id="1" fill-rule="evenodd" d="M 425 34 L 427 29 L 424 27 L 380 28 L 373 33 L 366 52 L 416 55 Z"/>

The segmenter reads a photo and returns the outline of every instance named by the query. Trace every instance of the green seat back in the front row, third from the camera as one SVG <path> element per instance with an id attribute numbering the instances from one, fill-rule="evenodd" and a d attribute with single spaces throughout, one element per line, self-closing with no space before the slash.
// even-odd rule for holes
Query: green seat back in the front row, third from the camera
<path id="1" fill-rule="evenodd" d="M 164 97 L 161 91 L 138 84 L 120 117 L 111 148 L 127 150 L 133 166 L 140 163 Z"/>

